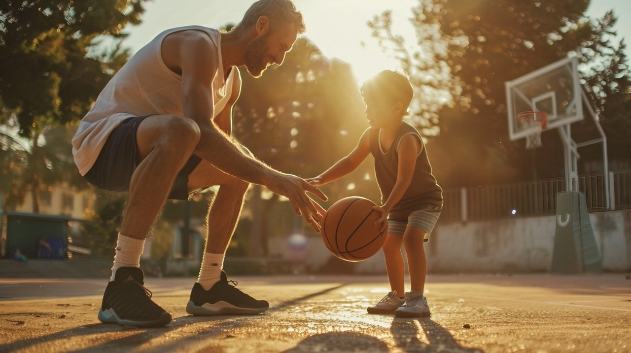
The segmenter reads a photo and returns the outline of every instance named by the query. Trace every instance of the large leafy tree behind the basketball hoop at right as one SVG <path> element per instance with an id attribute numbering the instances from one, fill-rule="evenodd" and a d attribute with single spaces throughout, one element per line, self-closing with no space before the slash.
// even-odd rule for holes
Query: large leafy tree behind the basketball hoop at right
<path id="1" fill-rule="evenodd" d="M 590 20 L 584 14 L 588 0 L 434 3 L 427 6 L 427 1 L 420 0 L 413 9 L 425 15 L 422 22 L 415 17 L 417 33 L 426 23 L 439 23 L 444 35 L 464 36 L 468 42 L 451 50 L 446 61 L 463 91 L 456 107 L 440 112 L 440 136 L 433 141 L 432 165 L 443 185 L 515 180 L 531 172 L 533 155 L 524 150 L 523 141 L 511 142 L 507 136 L 505 81 L 576 55 L 582 69 L 596 62 L 606 67 L 599 72 L 582 70 L 584 86 L 598 92 L 601 112 L 606 102 L 624 101 L 628 95 L 623 91 L 628 87 L 624 44 L 616 48 L 607 40 L 613 34 L 613 14 Z M 543 175 L 562 173 L 558 148 L 558 141 L 544 141 L 538 154 L 546 158 L 536 160 Z"/>

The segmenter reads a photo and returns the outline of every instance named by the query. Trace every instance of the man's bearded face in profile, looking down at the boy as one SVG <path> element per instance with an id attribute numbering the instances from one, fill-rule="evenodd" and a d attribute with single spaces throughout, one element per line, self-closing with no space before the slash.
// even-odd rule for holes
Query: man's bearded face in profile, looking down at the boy
<path id="1" fill-rule="evenodd" d="M 282 64 L 286 52 L 292 50 L 297 37 L 298 31 L 293 23 L 290 23 L 281 26 L 274 32 L 268 32 L 261 37 L 254 38 L 245 49 L 245 69 L 257 78 L 268 66 Z"/>

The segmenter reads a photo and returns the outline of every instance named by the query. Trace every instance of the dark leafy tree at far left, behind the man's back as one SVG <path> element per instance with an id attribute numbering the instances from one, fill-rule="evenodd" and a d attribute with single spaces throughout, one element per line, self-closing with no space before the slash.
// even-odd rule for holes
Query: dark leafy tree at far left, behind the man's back
<path id="1" fill-rule="evenodd" d="M 14 199 L 20 199 L 20 193 L 30 190 L 34 212 L 38 211 L 38 190 L 62 178 L 62 174 L 51 174 L 52 170 L 64 170 L 71 161 L 69 137 L 64 136 L 68 137 L 65 148 L 53 147 L 55 139 L 50 137 L 55 132 L 50 127 L 83 117 L 112 74 L 127 61 L 129 51 L 121 49 L 126 34 L 121 28 L 140 22 L 143 1 L 0 3 L 0 122 L 6 125 L 15 120 L 20 136 L 30 140 L 28 161 L 13 191 L 17 192 Z M 113 38 L 111 49 L 97 49 L 95 44 L 105 38 Z"/>

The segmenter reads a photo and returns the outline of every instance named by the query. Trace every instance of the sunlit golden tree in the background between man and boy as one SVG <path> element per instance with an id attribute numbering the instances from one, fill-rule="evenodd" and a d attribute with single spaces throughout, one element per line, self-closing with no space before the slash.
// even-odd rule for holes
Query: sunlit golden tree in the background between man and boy
<path id="1" fill-rule="evenodd" d="M 234 135 L 257 158 L 280 171 L 316 176 L 349 153 L 368 127 L 350 66 L 324 57 L 305 37 L 298 38 L 282 66 L 269 67 L 257 79 L 244 72 L 242 79 Z M 360 188 L 369 186 L 363 180 L 367 168 L 362 166 L 355 173 L 359 177 L 348 178 L 345 185 L 355 179 L 352 191 L 363 192 Z M 349 192 L 338 183 L 323 191 L 332 201 Z M 257 185 L 251 189 L 245 207 L 252 214 L 249 248 L 259 252 L 253 255 L 266 255 L 269 212 L 279 200 Z"/>

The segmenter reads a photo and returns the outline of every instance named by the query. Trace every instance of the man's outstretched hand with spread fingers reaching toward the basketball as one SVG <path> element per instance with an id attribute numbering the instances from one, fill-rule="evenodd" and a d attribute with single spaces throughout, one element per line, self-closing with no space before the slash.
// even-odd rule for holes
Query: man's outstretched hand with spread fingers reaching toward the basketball
<path id="1" fill-rule="evenodd" d="M 314 194 L 319 199 L 326 201 L 328 198 L 316 186 L 295 175 L 278 173 L 276 178 L 271 179 L 268 185 L 265 185 L 271 192 L 283 195 L 292 204 L 293 211 L 298 216 L 304 217 L 305 221 L 311 227 L 320 233 L 322 218 L 324 217 L 324 209 L 314 200 L 310 199 L 307 192 Z"/>

